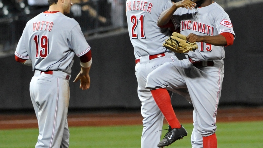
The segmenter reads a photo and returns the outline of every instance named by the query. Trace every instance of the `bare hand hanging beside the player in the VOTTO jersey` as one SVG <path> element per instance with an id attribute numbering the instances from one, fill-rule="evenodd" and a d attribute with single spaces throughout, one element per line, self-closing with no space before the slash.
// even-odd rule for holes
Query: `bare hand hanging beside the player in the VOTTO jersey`
<path id="1" fill-rule="evenodd" d="M 90 87 L 90 77 L 89 77 L 89 68 L 81 67 L 81 70 L 73 82 L 80 80 L 79 88 L 82 90 L 87 90 Z"/>

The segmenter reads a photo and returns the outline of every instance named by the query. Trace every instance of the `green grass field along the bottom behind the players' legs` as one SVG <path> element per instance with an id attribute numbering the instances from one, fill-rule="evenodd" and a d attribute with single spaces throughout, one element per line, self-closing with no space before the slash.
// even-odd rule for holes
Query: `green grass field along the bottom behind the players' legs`
<path id="1" fill-rule="evenodd" d="M 168 148 L 191 148 L 188 136 Z M 164 125 L 164 129 L 167 129 Z M 70 127 L 70 148 L 140 148 L 142 125 Z M 163 135 L 166 131 L 163 131 Z M 263 148 L 263 121 L 217 123 L 218 148 Z M 0 130 L 0 148 L 33 148 L 38 129 Z"/>

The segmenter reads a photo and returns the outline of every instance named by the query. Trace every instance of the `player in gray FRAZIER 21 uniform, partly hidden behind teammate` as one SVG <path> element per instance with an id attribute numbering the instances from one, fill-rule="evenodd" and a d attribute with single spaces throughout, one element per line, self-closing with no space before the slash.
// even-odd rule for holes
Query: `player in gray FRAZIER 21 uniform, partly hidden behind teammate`
<path id="1" fill-rule="evenodd" d="M 157 19 L 161 12 L 172 5 L 170 0 L 126 1 L 129 36 L 136 58 L 135 75 L 138 82 L 138 96 L 141 101 L 141 114 L 144 118 L 141 148 L 157 147 L 161 132 L 156 131 L 162 129 L 164 119 L 150 90 L 145 88 L 146 77 L 165 62 L 178 60 L 173 52 L 162 47 L 162 43 L 168 35 L 171 35 L 171 32 L 167 28 L 157 26 Z M 185 89 L 176 93 L 185 98 L 188 95 Z"/>

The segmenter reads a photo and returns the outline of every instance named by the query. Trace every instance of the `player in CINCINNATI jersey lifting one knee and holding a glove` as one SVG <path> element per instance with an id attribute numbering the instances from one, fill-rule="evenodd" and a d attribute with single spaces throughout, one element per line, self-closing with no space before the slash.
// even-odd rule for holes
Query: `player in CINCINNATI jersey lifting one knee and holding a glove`
<path id="1" fill-rule="evenodd" d="M 212 0 L 183 0 L 161 13 L 157 22 L 160 27 L 171 25 L 180 29 L 189 42 L 198 44 L 197 50 L 186 53 L 186 59 L 165 63 L 146 79 L 146 88 L 151 89 L 171 125 L 158 147 L 168 146 L 183 136 L 174 126 L 177 121 L 167 90 L 187 87 L 194 106 L 192 147 L 216 148 L 216 110 L 224 78 L 224 46 L 232 45 L 235 38 L 229 16 Z"/>

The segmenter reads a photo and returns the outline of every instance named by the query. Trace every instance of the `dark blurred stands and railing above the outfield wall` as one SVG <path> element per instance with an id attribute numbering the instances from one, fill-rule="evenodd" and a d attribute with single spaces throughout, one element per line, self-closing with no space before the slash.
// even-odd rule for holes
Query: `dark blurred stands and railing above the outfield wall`
<path id="1" fill-rule="evenodd" d="M 229 10 L 263 0 L 215 1 Z M 127 28 L 125 2 L 126 0 L 72 0 L 71 13 L 67 16 L 79 22 L 86 37 Z M 27 21 L 47 9 L 47 0 L 0 0 L 0 57 L 13 54 Z"/>

